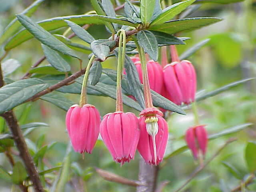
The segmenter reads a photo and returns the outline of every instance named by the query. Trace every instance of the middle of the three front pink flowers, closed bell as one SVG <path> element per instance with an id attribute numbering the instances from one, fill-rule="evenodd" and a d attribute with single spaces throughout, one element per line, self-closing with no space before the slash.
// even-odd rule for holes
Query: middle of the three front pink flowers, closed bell
<path id="1" fill-rule="evenodd" d="M 100 124 L 100 135 L 114 161 L 124 164 L 134 159 L 140 129 L 133 113 L 114 112 L 106 114 Z"/>

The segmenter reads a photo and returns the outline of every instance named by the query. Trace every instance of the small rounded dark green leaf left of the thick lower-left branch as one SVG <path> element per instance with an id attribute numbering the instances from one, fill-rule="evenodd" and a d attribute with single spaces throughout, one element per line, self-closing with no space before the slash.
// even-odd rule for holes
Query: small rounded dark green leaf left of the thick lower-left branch
<path id="1" fill-rule="evenodd" d="M 22 162 L 18 161 L 14 164 L 12 171 L 12 182 L 21 184 L 27 177 L 27 172 Z"/>

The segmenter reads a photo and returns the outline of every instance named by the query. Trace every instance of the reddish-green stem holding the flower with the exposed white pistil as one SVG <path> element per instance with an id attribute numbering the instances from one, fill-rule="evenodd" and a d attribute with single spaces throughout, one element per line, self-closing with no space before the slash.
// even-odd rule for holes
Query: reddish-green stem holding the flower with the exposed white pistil
<path id="1" fill-rule="evenodd" d="M 145 106 L 146 106 L 146 108 L 151 108 L 154 106 L 153 106 L 152 96 L 151 96 L 151 92 L 150 92 L 145 52 L 144 52 L 143 48 L 139 45 L 138 40 L 135 37 L 133 38 L 133 40 L 137 46 L 137 50 L 139 52 L 140 62 L 141 62 L 141 66 L 142 66 L 142 79 L 143 79 Z"/>

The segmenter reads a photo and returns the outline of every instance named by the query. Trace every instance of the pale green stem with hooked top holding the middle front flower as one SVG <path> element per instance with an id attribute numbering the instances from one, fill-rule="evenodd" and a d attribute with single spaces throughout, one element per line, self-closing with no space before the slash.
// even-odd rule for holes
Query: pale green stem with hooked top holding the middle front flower
<path id="1" fill-rule="evenodd" d="M 122 74 L 126 50 L 126 33 L 124 30 L 119 30 L 117 35 L 120 35 L 120 37 L 118 44 L 118 64 L 116 76 L 116 111 L 123 111 L 124 109 L 122 100 Z"/>

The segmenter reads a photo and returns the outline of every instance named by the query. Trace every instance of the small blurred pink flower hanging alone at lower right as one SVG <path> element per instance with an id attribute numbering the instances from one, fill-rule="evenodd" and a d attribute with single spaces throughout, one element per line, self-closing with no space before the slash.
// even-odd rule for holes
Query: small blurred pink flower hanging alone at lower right
<path id="1" fill-rule="evenodd" d="M 206 153 L 208 136 L 204 127 L 205 125 L 194 126 L 186 131 L 185 139 L 195 159 L 198 158 L 199 151 L 203 156 Z"/>

